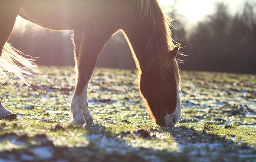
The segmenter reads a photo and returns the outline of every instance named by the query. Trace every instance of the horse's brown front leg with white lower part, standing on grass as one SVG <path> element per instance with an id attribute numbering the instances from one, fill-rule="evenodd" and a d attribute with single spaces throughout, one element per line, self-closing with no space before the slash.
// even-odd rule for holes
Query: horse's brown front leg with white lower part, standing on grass
<path id="1" fill-rule="evenodd" d="M 71 124 L 92 123 L 88 109 L 87 87 L 98 56 L 115 30 L 90 28 L 82 32 L 74 30 L 76 61 L 76 88 L 70 105 Z"/>

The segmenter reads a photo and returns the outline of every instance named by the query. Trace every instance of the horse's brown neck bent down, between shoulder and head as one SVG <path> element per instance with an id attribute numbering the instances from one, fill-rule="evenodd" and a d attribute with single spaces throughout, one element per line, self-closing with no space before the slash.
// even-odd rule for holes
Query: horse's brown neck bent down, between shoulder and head
<path id="1" fill-rule="evenodd" d="M 169 68 L 171 62 L 169 55 L 173 47 L 171 32 L 167 18 L 157 2 L 147 2 L 150 4 L 146 3 L 142 10 L 135 9 L 130 24 L 124 28 L 124 31 L 130 40 L 141 71 L 157 70 L 163 74 L 170 70 L 165 69 Z"/>

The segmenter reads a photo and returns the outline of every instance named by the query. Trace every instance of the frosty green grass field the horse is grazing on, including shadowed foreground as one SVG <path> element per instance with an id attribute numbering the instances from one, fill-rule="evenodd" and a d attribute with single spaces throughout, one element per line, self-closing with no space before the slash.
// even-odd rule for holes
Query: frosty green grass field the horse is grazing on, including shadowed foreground
<path id="1" fill-rule="evenodd" d="M 70 126 L 72 67 L 41 67 L 31 87 L 1 85 L 17 119 L 0 120 L 0 162 L 256 162 L 256 75 L 182 71 L 182 119 L 150 120 L 136 70 L 96 68 L 94 123 Z"/>

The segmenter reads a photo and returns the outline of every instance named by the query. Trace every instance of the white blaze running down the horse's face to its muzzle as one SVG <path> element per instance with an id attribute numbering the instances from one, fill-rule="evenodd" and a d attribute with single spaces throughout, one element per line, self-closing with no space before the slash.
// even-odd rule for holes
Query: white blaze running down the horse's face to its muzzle
<path id="1" fill-rule="evenodd" d="M 177 97 L 176 97 L 176 109 L 173 113 L 165 115 L 165 126 L 175 126 L 180 122 L 181 116 L 181 104 L 180 104 L 180 92 L 179 87 L 177 86 Z"/>

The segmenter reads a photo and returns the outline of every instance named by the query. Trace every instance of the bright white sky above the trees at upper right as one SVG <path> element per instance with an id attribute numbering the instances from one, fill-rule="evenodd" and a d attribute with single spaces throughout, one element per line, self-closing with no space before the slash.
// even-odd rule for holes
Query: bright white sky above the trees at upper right
<path id="1" fill-rule="evenodd" d="M 228 6 L 230 14 L 235 14 L 241 10 L 246 0 L 176 0 L 176 9 L 181 15 L 186 17 L 191 24 L 204 19 L 207 15 L 215 11 L 215 4 L 224 2 Z M 247 0 L 256 4 L 256 0 Z M 173 6 L 174 0 L 159 0 L 159 4 L 163 7 Z M 166 9 L 168 10 L 168 8 Z"/>

